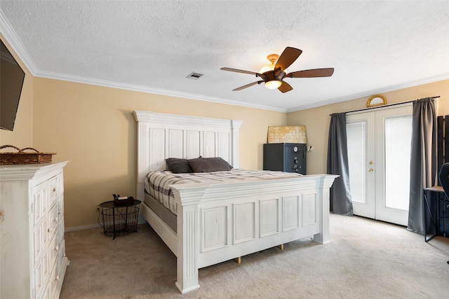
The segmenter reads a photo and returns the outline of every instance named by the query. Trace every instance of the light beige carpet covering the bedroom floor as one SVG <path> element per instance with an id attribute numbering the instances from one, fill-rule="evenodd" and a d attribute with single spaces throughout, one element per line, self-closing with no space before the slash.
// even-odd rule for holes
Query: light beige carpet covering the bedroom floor
<path id="1" fill-rule="evenodd" d="M 149 225 L 112 240 L 102 228 L 66 232 L 69 298 L 449 298 L 449 238 L 331 214 L 332 242 L 308 239 L 199 270 L 181 295 L 176 257 Z"/>

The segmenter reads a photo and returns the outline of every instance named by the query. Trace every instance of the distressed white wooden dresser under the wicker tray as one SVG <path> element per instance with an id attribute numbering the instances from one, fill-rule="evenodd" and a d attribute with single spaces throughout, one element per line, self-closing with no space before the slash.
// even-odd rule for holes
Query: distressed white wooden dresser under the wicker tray
<path id="1" fill-rule="evenodd" d="M 0 298 L 59 298 L 66 164 L 0 165 Z"/>

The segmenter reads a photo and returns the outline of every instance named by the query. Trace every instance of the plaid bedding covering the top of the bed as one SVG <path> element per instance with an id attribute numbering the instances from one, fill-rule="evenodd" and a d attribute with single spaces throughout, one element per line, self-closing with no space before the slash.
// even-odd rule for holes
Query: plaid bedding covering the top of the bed
<path id="1" fill-rule="evenodd" d="M 227 172 L 196 172 L 174 174 L 168 170 L 149 172 L 145 178 L 145 192 L 159 200 L 164 207 L 176 214 L 176 202 L 170 186 L 185 183 L 233 183 L 272 179 L 288 179 L 302 174 L 273 172 L 269 170 L 232 169 Z"/>

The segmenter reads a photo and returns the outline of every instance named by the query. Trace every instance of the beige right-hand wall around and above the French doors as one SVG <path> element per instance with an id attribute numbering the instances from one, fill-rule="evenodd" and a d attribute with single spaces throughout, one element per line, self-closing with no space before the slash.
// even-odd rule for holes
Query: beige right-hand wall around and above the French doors
<path id="1" fill-rule="evenodd" d="M 449 80 L 385 92 L 382 95 L 387 99 L 387 104 L 439 95 L 438 116 L 449 114 Z M 288 125 L 306 126 L 307 145 L 314 147 L 313 151 L 307 153 L 307 174 L 326 173 L 330 113 L 366 108 L 368 99 L 369 97 L 362 97 L 287 114 Z"/>

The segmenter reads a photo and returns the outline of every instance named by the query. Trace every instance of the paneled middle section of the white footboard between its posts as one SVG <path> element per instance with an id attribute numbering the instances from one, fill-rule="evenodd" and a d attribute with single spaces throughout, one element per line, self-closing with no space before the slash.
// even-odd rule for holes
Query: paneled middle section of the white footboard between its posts
<path id="1" fill-rule="evenodd" d="M 316 190 L 309 192 L 200 207 L 198 267 L 318 234 L 319 200 Z"/>

